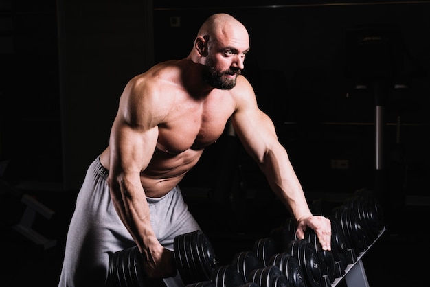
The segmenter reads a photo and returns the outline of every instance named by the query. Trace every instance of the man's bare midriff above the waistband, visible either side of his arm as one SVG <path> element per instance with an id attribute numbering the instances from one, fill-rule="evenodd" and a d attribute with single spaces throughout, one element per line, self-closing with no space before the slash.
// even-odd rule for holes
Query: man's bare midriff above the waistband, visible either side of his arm
<path id="1" fill-rule="evenodd" d="M 147 197 L 157 198 L 170 192 L 183 176 L 199 161 L 203 149 L 188 149 L 172 154 L 157 148 L 148 167 L 140 173 L 140 181 Z M 109 147 L 100 155 L 100 162 L 109 170 Z"/>

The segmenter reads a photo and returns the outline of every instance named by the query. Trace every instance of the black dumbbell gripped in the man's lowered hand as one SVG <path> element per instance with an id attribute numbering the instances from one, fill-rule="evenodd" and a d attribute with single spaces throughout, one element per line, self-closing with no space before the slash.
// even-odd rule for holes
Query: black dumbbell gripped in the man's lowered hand
<path id="1" fill-rule="evenodd" d="M 197 230 L 174 238 L 174 260 L 183 284 L 210 280 L 217 268 L 210 240 Z M 113 253 L 109 260 L 109 280 L 113 287 L 166 286 L 162 279 L 149 279 L 143 269 L 144 257 L 137 246 Z"/>

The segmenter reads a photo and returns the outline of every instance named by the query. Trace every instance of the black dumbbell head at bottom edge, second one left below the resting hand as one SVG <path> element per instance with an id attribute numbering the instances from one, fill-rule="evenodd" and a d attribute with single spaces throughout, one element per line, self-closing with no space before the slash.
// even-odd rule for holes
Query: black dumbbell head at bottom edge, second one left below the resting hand
<path id="1" fill-rule="evenodd" d="M 280 271 L 286 278 L 288 286 L 306 287 L 302 267 L 300 267 L 297 258 L 291 256 L 290 253 L 282 252 L 273 255 L 269 260 L 269 266 L 270 265 L 275 265 L 280 268 Z"/>

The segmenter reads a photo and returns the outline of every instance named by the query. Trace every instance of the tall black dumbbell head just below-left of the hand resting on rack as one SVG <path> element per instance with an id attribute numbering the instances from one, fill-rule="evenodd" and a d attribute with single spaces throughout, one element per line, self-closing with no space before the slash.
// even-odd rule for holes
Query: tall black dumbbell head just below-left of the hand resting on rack
<path id="1" fill-rule="evenodd" d="M 307 286 L 320 287 L 323 278 L 314 246 L 306 239 L 297 239 L 288 243 L 286 252 L 297 258 L 304 271 Z"/>

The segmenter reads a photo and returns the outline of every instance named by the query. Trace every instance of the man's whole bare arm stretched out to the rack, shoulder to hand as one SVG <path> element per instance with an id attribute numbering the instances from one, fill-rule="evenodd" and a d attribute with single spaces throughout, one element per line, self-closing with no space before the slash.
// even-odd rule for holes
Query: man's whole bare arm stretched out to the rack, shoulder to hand
<path id="1" fill-rule="evenodd" d="M 231 124 L 245 150 L 258 163 L 273 192 L 297 221 L 297 238 L 304 238 L 306 227 L 310 227 L 317 234 L 323 249 L 330 250 L 330 220 L 311 213 L 288 153 L 278 141 L 273 122 L 258 108 L 251 85 L 245 78 L 239 77 L 232 92 L 236 99 L 236 111 L 231 116 Z"/>

